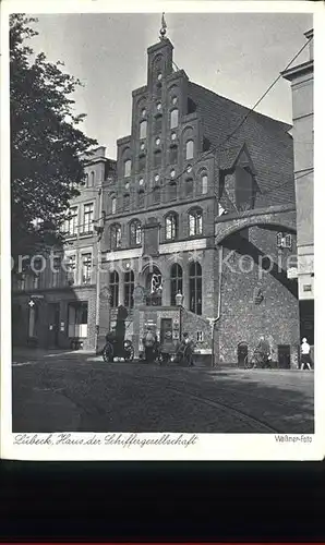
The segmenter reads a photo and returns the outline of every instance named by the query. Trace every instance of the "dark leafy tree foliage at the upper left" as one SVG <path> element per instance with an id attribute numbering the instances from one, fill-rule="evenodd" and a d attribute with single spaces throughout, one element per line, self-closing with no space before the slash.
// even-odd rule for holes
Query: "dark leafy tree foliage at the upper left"
<path id="1" fill-rule="evenodd" d="M 84 162 L 96 141 L 79 129 L 73 109 L 81 82 L 26 45 L 37 20 L 10 20 L 12 255 L 60 241 L 69 199 L 79 194 Z M 35 220 L 38 220 L 37 225 Z"/>

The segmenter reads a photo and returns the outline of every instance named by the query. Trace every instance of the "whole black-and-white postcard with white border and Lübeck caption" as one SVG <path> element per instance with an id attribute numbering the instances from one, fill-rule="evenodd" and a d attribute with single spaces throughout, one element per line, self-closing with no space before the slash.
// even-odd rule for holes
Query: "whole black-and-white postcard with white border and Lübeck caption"
<path id="1" fill-rule="evenodd" d="M 15 452 L 312 449 L 317 2 L 94 3 L 8 13 Z"/>

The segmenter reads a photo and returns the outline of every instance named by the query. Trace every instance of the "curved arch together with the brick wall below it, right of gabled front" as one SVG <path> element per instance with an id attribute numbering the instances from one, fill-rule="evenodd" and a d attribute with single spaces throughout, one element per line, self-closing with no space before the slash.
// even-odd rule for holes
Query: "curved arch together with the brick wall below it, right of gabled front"
<path id="1" fill-rule="evenodd" d="M 296 255 L 294 240 L 291 249 L 278 247 L 277 232 L 297 232 L 294 210 L 225 218 L 216 225 L 215 242 L 222 249 L 216 352 L 225 362 L 241 364 L 243 343 L 251 356 L 264 335 L 274 338 L 275 361 L 281 346 L 290 347 L 294 366 L 298 287 L 287 275 L 287 256 Z"/>

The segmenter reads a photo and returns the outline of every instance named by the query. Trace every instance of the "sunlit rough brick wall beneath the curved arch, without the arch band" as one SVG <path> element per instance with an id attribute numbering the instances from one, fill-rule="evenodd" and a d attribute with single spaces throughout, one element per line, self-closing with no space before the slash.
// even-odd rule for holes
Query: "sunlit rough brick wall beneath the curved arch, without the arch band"
<path id="1" fill-rule="evenodd" d="M 258 227 L 248 231 L 246 239 L 233 235 L 224 241 L 221 314 L 217 324 L 218 359 L 225 363 L 237 362 L 237 347 L 243 341 L 248 342 L 249 353 L 252 354 L 261 335 L 264 335 L 275 350 L 275 358 L 278 344 L 291 347 L 293 366 L 299 343 L 297 282 L 286 278 L 286 255 L 280 257 L 278 253 L 277 231 Z M 282 253 L 294 254 L 294 238 L 293 242 L 292 251 Z M 273 272 L 262 270 L 256 264 L 263 255 L 269 255 L 275 261 Z M 228 265 L 225 265 L 226 262 Z M 263 263 L 268 265 L 266 259 Z M 254 296 L 258 290 L 263 300 L 256 304 Z"/>

